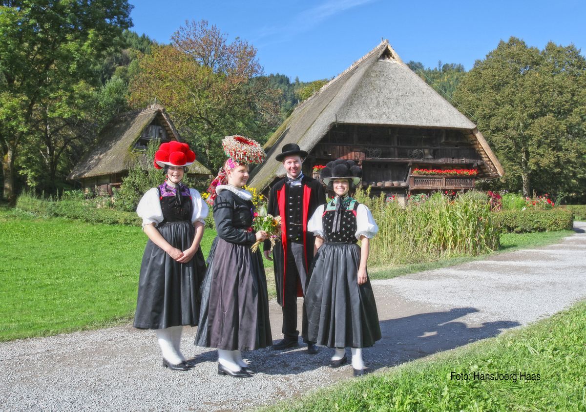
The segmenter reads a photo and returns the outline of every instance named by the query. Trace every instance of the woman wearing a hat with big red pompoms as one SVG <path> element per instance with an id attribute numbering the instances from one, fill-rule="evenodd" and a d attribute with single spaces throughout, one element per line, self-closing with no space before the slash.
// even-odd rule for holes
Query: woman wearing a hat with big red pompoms
<path id="1" fill-rule="evenodd" d="M 134 327 L 155 329 L 163 366 L 186 370 L 193 366 L 180 351 L 183 326 L 199 320 L 197 291 L 205 273 L 199 247 L 208 207 L 199 192 L 182 183 L 195 153 L 186 143 L 161 144 L 155 168 L 165 182 L 149 189 L 138 203 L 142 230 L 149 240 L 142 256 Z"/>

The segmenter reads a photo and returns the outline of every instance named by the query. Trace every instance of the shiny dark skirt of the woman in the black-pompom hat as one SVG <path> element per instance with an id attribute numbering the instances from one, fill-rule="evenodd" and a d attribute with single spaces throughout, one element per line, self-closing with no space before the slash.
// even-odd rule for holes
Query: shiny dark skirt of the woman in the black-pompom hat
<path id="1" fill-rule="evenodd" d="M 311 265 L 304 338 L 328 348 L 365 348 L 381 338 L 370 280 L 359 285 L 360 247 L 325 243 Z"/>

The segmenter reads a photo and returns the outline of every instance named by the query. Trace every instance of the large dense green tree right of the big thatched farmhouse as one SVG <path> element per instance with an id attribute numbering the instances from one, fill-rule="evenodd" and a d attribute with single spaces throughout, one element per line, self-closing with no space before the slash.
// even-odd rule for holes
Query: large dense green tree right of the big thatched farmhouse
<path id="1" fill-rule="evenodd" d="M 502 188 L 584 198 L 586 59 L 575 46 L 501 41 L 477 60 L 454 100 L 505 168 Z"/>

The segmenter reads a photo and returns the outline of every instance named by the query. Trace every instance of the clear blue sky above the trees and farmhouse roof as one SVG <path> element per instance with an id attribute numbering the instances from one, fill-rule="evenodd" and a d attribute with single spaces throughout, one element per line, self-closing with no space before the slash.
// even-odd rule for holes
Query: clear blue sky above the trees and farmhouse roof
<path id="1" fill-rule="evenodd" d="M 130 0 L 139 34 L 161 43 L 186 20 L 206 19 L 230 39 L 258 49 L 265 74 L 329 79 L 379 44 L 404 62 L 462 63 L 466 70 L 516 36 L 540 49 L 548 41 L 586 47 L 586 2 L 568 1 L 183 1 Z"/>

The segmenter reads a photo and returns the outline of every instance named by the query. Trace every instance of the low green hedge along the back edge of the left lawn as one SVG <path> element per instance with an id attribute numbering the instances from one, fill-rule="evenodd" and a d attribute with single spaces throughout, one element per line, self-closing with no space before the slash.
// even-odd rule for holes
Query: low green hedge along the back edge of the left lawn
<path id="1" fill-rule="evenodd" d="M 81 200 L 43 200 L 30 195 L 19 196 L 16 207 L 47 217 L 66 217 L 89 223 L 127 224 L 140 226 L 142 220 L 135 212 L 110 208 L 98 209 Z"/>

